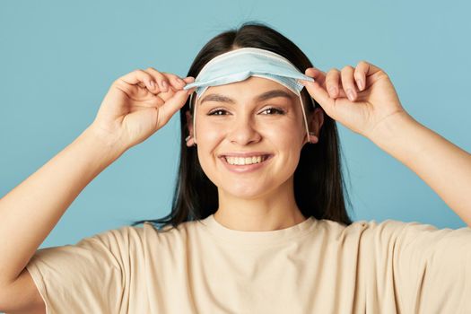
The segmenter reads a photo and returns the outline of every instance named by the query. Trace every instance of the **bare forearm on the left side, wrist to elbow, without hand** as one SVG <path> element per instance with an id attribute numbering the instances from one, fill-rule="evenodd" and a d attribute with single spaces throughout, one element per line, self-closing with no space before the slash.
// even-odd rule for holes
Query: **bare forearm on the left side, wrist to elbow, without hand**
<path id="1" fill-rule="evenodd" d="M 22 272 L 74 199 L 122 153 L 89 127 L 0 199 L 0 283 Z"/>

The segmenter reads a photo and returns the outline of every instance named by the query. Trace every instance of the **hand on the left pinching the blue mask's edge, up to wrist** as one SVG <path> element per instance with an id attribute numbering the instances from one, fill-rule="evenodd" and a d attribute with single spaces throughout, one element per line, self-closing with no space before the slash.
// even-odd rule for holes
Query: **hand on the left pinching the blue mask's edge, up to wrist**
<path id="1" fill-rule="evenodd" d="M 183 90 L 194 81 L 191 76 L 180 79 L 152 67 L 121 76 L 111 84 L 91 127 L 126 151 L 165 126 L 195 91 Z"/>

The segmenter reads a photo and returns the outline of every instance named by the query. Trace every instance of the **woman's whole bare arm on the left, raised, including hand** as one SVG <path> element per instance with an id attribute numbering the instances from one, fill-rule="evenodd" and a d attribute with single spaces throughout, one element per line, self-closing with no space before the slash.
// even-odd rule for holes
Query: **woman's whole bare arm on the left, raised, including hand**
<path id="1" fill-rule="evenodd" d="M 92 125 L 0 199 L 0 252 L 8 257 L 0 258 L 0 311 L 45 310 L 45 301 L 40 299 L 25 266 L 83 188 L 179 111 L 189 95 L 182 88 L 193 80 L 181 80 L 175 74 L 162 74 L 153 68 L 121 76 L 109 88 Z M 164 89 L 158 87 L 162 82 L 167 86 Z M 89 243 L 83 240 L 80 245 Z M 70 248 L 79 248 L 79 244 L 50 251 L 74 254 Z M 104 253 L 106 257 L 106 249 Z M 64 261 L 51 258 L 50 266 Z M 50 283 L 48 290 L 53 292 L 54 288 L 54 283 Z"/>

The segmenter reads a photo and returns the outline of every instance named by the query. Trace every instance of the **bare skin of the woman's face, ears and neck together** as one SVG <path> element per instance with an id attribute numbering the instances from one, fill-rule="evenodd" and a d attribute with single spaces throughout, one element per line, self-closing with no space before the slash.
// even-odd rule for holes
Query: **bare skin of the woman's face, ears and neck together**
<path id="1" fill-rule="evenodd" d="M 289 97 L 257 101 L 258 95 L 274 90 Z M 233 103 L 214 99 L 216 94 Z M 208 115 L 214 112 L 219 115 Z M 189 114 L 187 121 L 193 137 Z M 311 141 L 317 142 L 322 122 L 322 112 L 316 109 L 310 117 Z M 218 222 L 233 230 L 271 231 L 306 219 L 295 203 L 293 189 L 301 148 L 308 143 L 301 100 L 295 93 L 260 77 L 209 87 L 196 103 L 196 138 L 201 167 L 218 188 L 219 208 L 214 214 Z M 188 145 L 193 143 L 194 139 L 188 141 Z M 273 156 L 257 171 L 233 173 L 218 156 L 239 152 Z"/>

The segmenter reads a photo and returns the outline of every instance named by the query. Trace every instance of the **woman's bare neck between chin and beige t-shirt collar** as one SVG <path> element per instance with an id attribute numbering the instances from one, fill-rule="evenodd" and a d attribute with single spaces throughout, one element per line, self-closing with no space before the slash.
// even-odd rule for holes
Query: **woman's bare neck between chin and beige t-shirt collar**
<path id="1" fill-rule="evenodd" d="M 306 220 L 294 199 L 293 180 L 255 198 L 241 198 L 218 189 L 219 208 L 214 219 L 239 231 L 274 231 Z"/>

